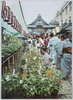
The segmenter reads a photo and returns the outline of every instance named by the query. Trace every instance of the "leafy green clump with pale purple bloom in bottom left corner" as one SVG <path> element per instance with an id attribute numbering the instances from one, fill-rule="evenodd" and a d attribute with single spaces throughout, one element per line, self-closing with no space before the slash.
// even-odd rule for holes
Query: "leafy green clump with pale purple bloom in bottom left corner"
<path id="1" fill-rule="evenodd" d="M 18 74 L 14 74 L 14 75 L 11 75 L 10 73 L 8 73 L 7 75 L 4 74 L 1 81 L 2 81 L 3 90 L 5 91 L 7 90 L 7 93 L 9 93 L 15 88 L 21 87 L 20 78 Z"/>

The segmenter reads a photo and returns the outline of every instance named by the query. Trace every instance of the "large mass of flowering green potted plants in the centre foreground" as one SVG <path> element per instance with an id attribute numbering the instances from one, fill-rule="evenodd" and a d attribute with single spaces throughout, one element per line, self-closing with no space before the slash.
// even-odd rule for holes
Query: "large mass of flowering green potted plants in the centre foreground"
<path id="1" fill-rule="evenodd" d="M 42 55 L 34 48 L 27 51 L 21 58 L 21 67 L 26 72 L 25 78 L 22 79 L 22 75 L 19 77 L 16 74 L 5 81 L 4 76 L 2 85 L 5 87 L 3 88 L 8 91 L 11 91 L 12 88 L 21 89 L 20 94 L 28 97 L 34 95 L 44 95 L 46 97 L 51 95 L 53 90 L 62 88 L 60 73 L 52 71 L 51 77 L 48 77 L 48 70 L 41 64 L 41 57 Z M 24 69 L 25 63 L 27 64 L 26 70 Z"/>

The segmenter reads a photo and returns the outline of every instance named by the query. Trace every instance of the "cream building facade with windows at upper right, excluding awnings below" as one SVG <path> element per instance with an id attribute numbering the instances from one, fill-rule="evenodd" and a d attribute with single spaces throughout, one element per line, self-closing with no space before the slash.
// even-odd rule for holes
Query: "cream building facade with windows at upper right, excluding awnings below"
<path id="1" fill-rule="evenodd" d="M 72 22 L 72 1 L 64 2 L 60 10 L 56 13 L 53 21 L 59 22 L 60 26 L 62 23 Z"/>

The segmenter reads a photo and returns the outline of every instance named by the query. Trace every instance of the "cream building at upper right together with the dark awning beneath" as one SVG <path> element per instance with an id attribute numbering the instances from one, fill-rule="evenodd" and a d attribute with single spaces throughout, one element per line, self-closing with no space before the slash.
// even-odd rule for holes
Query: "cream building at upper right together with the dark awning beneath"
<path id="1" fill-rule="evenodd" d="M 72 1 L 65 1 L 52 21 L 59 23 L 59 33 L 72 33 Z"/>

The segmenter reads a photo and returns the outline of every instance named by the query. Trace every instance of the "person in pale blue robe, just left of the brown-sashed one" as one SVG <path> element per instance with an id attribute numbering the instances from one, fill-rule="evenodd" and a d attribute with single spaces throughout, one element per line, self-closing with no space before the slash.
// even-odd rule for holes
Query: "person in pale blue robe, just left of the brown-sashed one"
<path id="1" fill-rule="evenodd" d="M 53 64 L 56 64 L 56 50 L 55 50 L 55 45 L 57 44 L 57 42 L 59 41 L 59 38 L 54 36 L 53 33 L 50 33 L 50 41 L 48 43 L 47 48 L 50 49 L 50 56 L 51 59 L 53 60 Z"/>

